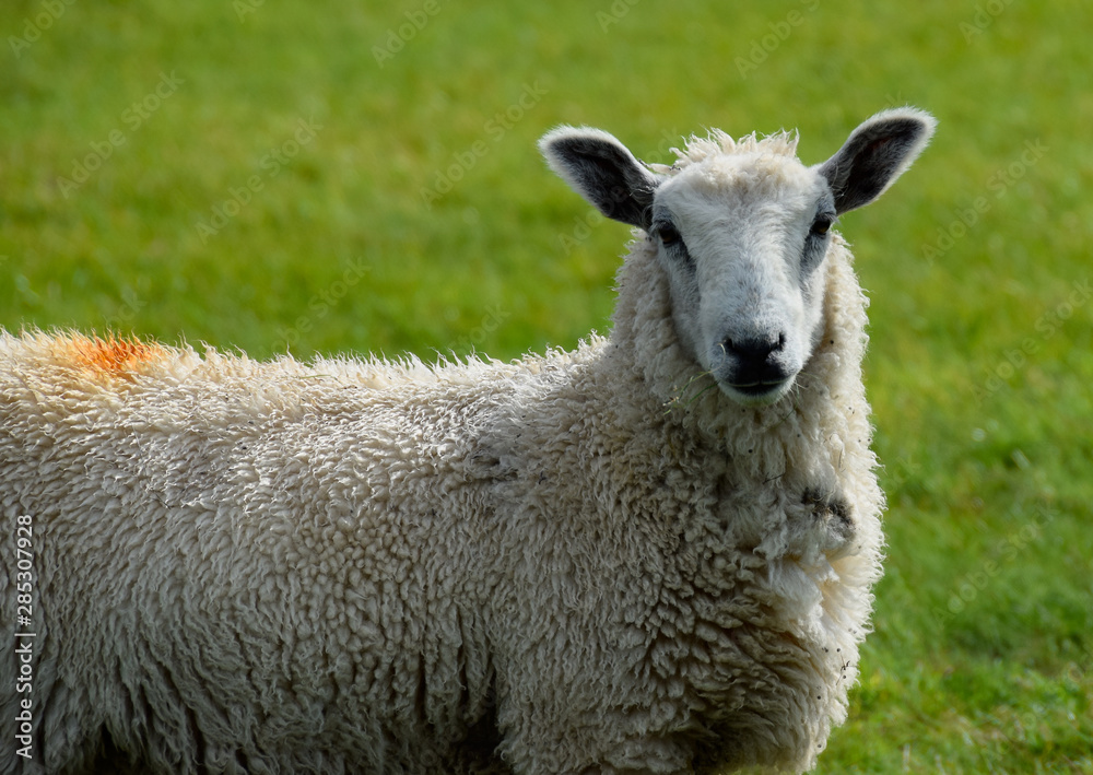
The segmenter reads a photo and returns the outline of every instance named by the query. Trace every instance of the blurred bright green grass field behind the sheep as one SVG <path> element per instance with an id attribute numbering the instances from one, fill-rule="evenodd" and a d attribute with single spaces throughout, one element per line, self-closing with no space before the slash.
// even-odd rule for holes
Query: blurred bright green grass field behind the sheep
<path id="1" fill-rule="evenodd" d="M 627 230 L 559 122 L 683 134 L 940 119 L 843 219 L 890 509 L 821 773 L 1093 773 L 1093 8 L 7 0 L 0 325 L 259 357 L 606 330 Z"/>

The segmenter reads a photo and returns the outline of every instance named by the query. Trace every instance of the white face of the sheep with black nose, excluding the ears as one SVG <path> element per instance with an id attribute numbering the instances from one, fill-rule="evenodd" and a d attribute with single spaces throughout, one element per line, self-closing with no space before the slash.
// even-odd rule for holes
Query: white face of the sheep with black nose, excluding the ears
<path id="1" fill-rule="evenodd" d="M 649 237 L 681 344 L 721 390 L 769 403 L 823 333 L 827 181 L 785 155 L 721 154 L 658 186 Z"/>

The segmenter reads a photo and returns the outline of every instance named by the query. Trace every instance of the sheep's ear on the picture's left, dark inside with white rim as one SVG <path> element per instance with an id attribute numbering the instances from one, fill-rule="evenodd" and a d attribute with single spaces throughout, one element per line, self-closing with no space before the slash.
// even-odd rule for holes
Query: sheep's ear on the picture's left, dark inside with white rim
<path id="1" fill-rule="evenodd" d="M 539 150 L 551 169 L 610 219 L 649 228 L 659 179 L 613 137 L 587 127 L 559 127 Z"/>

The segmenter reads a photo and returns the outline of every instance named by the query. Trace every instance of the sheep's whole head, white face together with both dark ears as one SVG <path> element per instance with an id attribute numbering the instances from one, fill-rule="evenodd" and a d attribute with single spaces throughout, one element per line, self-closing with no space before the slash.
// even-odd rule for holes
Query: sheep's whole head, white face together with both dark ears
<path id="1" fill-rule="evenodd" d="M 540 149 L 600 212 L 645 230 L 683 347 L 730 398 L 764 404 L 792 387 L 822 337 L 832 224 L 910 166 L 935 124 L 885 110 L 811 167 L 786 133 L 734 142 L 715 132 L 672 167 L 643 165 L 598 129 L 560 127 Z"/>

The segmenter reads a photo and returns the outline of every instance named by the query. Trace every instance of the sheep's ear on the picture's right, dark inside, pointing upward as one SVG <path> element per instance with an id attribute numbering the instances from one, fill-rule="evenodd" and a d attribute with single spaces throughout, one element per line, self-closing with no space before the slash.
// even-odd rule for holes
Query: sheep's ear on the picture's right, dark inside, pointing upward
<path id="1" fill-rule="evenodd" d="M 881 196 L 922 152 L 937 119 L 916 108 L 884 110 L 855 129 L 834 156 L 820 165 L 835 211 L 860 208 Z"/>

